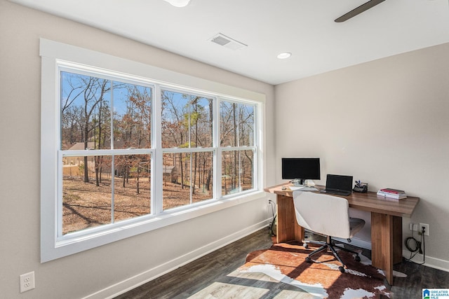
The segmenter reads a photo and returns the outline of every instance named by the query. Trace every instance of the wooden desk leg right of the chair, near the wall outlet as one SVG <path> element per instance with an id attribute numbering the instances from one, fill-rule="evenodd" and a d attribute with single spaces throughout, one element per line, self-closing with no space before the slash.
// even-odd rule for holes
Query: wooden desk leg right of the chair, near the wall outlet
<path id="1" fill-rule="evenodd" d="M 371 259 L 393 284 L 393 265 L 402 260 L 402 218 L 371 213 Z"/>

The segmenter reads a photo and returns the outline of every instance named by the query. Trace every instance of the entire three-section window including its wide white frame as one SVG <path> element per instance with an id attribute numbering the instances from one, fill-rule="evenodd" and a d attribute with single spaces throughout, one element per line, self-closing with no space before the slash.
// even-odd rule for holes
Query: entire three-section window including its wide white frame
<path id="1" fill-rule="evenodd" d="M 41 56 L 43 262 L 260 196 L 261 95 L 43 39 Z"/>

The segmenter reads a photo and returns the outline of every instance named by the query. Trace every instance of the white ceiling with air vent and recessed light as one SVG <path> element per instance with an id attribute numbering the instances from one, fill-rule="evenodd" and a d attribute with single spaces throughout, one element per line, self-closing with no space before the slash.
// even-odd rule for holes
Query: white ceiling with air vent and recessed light
<path id="1" fill-rule="evenodd" d="M 10 1 L 273 85 L 449 42 L 448 0 L 386 0 L 342 23 L 368 0 Z"/>

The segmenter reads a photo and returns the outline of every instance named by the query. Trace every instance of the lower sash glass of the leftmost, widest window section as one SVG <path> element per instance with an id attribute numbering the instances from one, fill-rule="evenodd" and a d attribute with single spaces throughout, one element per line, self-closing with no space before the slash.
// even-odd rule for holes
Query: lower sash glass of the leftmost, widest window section
<path id="1" fill-rule="evenodd" d="M 149 214 L 150 169 L 150 155 L 64 157 L 62 234 Z"/>

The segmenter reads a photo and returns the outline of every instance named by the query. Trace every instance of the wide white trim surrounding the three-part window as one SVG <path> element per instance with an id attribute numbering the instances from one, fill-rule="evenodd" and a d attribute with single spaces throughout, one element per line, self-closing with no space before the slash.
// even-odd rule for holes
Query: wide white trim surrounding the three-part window
<path id="1" fill-rule="evenodd" d="M 64 43 L 41 39 L 40 55 L 42 62 L 41 69 L 41 263 L 56 258 L 62 258 L 74 253 L 92 249 L 97 246 L 149 232 L 172 225 L 191 218 L 210 214 L 214 211 L 227 209 L 237 204 L 242 204 L 260 198 L 263 194 L 262 186 L 262 111 L 264 109 L 265 95 L 250 90 L 243 90 L 229 85 L 195 78 L 185 74 L 168 71 L 152 67 L 147 64 L 126 60 L 120 57 L 98 53 Z M 112 69 L 121 74 L 133 74 L 147 78 L 154 83 L 158 83 L 170 88 L 180 88 L 182 90 L 192 90 L 192 92 L 202 92 L 215 97 L 225 99 L 249 99 L 251 102 L 258 102 L 257 105 L 257 167 L 255 169 L 255 189 L 248 193 L 239 193 L 232 198 L 222 197 L 221 200 L 213 200 L 203 204 L 193 204 L 192 206 L 180 209 L 170 209 L 157 214 L 156 217 L 142 216 L 140 218 L 121 221 L 121 225 L 102 225 L 98 230 L 91 230 L 88 235 L 72 235 L 67 239 L 58 240 L 58 104 L 59 98 L 58 64 L 57 60 L 76 62 L 86 66 L 101 69 Z M 207 90 L 207 91 L 205 91 Z M 160 94 L 159 85 L 156 85 L 156 95 Z M 243 100 L 244 101 L 244 100 Z M 154 106 L 154 109 L 160 107 Z M 156 113 L 157 114 L 157 113 Z M 218 114 L 217 114 L 218 115 Z M 154 122 L 158 120 L 153 118 Z M 160 144 L 161 140 L 153 140 Z M 220 154 L 220 151 L 218 151 Z M 161 155 L 156 155 L 160 156 Z M 161 161 L 158 164 L 161 165 Z M 158 181 L 154 181 L 158 183 Z M 160 182 L 159 182 L 160 183 Z M 156 196 L 159 196 L 155 193 Z M 152 207 L 153 209 L 154 207 Z M 156 209 L 158 210 L 158 209 Z"/>

